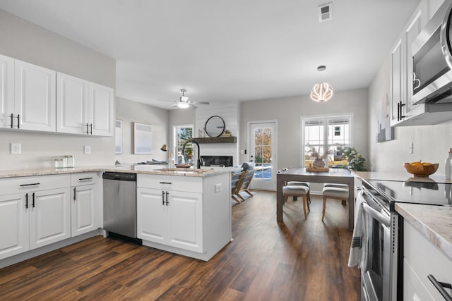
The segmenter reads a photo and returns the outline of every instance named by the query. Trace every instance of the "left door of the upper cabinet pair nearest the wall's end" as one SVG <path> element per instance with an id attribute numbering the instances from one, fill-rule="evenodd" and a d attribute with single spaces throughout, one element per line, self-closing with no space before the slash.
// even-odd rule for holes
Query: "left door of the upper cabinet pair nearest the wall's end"
<path id="1" fill-rule="evenodd" d="M 57 73 L 57 132 L 86 134 L 88 81 Z"/>

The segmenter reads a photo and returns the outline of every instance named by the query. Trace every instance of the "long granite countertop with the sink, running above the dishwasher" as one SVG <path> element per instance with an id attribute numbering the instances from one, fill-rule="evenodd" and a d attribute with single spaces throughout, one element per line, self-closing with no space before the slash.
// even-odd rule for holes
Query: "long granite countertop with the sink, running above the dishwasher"
<path id="1" fill-rule="evenodd" d="M 163 169 L 163 171 L 162 171 Z M 167 165 L 145 165 L 145 164 L 123 164 L 107 166 L 78 166 L 73 168 L 35 168 L 35 169 L 13 169 L 0 171 L 0 178 L 15 178 L 25 176 L 47 176 L 66 173 L 88 173 L 112 171 L 119 173 L 141 173 L 161 176 L 191 176 L 207 177 L 220 173 L 230 173 L 232 167 L 208 167 L 203 166 L 201 170 L 196 168 L 168 168 Z"/>

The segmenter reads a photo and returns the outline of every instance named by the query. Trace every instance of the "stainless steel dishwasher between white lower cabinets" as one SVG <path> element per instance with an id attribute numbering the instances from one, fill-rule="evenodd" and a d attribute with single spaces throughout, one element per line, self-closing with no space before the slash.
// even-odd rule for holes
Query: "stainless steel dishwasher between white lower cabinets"
<path id="1" fill-rule="evenodd" d="M 136 238 L 136 173 L 105 172 L 104 229 L 108 236 L 141 245 Z"/>

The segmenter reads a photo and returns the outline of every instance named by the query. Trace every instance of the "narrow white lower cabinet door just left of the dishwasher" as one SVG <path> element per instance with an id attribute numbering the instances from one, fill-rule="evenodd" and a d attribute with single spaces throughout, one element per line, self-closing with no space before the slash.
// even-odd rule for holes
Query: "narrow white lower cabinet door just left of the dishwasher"
<path id="1" fill-rule="evenodd" d="M 95 200 L 97 185 L 83 185 L 73 188 L 71 199 L 71 235 L 81 235 L 94 231 L 97 226 Z"/>

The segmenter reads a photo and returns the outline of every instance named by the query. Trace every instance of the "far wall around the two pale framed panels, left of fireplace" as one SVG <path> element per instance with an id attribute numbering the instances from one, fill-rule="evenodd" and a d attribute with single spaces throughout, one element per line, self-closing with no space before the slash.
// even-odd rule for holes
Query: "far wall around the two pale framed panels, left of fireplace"
<path id="1" fill-rule="evenodd" d="M 117 97 L 116 118 L 122 120 L 122 154 L 116 155 L 121 164 L 134 164 L 152 159 L 165 161 L 167 152 L 160 147 L 168 141 L 169 111 L 140 102 Z M 133 123 L 145 123 L 153 126 L 153 154 L 133 154 Z"/>

